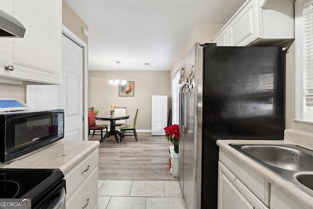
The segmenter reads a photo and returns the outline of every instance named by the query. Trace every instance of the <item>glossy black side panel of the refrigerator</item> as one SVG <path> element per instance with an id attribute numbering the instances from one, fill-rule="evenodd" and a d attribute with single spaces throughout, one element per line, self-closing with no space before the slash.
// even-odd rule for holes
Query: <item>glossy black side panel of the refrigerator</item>
<path id="1" fill-rule="evenodd" d="M 283 139 L 282 47 L 203 47 L 202 208 L 217 208 L 218 139 Z"/>

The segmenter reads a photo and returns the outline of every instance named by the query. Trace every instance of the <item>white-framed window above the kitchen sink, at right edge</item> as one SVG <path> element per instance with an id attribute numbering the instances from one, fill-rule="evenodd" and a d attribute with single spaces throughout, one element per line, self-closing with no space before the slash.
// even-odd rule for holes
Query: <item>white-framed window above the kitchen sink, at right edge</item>
<path id="1" fill-rule="evenodd" d="M 313 0 L 295 1 L 296 118 L 313 124 Z"/>

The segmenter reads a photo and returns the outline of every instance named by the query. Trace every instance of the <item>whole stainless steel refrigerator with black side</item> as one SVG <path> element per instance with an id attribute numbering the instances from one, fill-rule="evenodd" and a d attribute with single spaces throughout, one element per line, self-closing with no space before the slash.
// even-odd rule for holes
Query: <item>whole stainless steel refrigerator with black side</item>
<path id="1" fill-rule="evenodd" d="M 217 209 L 216 140 L 283 140 L 286 52 L 196 43 L 184 59 L 179 183 L 188 209 Z"/>

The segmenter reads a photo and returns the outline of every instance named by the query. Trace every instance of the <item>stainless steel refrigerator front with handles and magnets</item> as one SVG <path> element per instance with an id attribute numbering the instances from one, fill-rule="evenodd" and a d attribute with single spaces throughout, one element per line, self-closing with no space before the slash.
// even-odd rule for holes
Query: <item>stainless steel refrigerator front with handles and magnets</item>
<path id="1" fill-rule="evenodd" d="M 192 47 L 185 58 L 184 84 L 180 88 L 179 104 L 179 182 L 183 191 L 188 209 L 195 208 L 197 191 L 195 190 L 195 176 L 197 156 L 196 133 L 195 133 L 195 105 L 196 105 L 196 83 L 195 62 L 196 47 Z"/>

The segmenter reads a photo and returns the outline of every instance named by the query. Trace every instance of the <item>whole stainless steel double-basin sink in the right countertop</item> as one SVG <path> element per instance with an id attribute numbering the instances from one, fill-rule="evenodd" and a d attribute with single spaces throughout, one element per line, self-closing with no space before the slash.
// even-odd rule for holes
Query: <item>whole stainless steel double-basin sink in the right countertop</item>
<path id="1" fill-rule="evenodd" d="M 313 151 L 294 144 L 229 144 L 313 196 Z"/>

